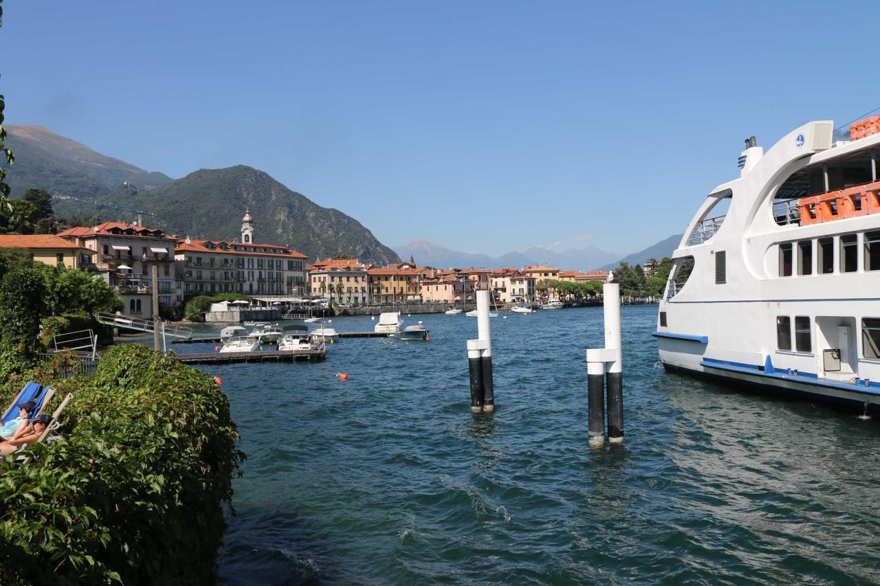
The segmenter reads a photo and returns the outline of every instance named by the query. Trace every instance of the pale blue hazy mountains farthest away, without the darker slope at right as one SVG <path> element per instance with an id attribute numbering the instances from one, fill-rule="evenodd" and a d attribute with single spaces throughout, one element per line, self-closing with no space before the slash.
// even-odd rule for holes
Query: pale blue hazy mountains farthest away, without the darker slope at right
<path id="1" fill-rule="evenodd" d="M 620 253 L 609 253 L 595 246 L 571 249 L 564 252 L 549 251 L 532 247 L 522 252 L 512 252 L 500 257 L 480 253 L 459 253 L 427 240 L 414 240 L 408 245 L 394 246 L 400 258 L 408 259 L 410 254 L 420 265 L 431 267 L 524 267 L 547 263 L 563 270 L 590 270 L 610 260 L 619 259 Z"/>

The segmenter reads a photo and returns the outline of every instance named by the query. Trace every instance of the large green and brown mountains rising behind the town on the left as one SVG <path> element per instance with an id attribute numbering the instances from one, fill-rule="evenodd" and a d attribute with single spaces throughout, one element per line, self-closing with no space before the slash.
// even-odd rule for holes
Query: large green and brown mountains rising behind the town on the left
<path id="1" fill-rule="evenodd" d="M 201 169 L 182 179 L 147 172 L 107 157 L 40 126 L 5 126 L 15 153 L 7 180 L 13 196 L 28 188 L 55 195 L 56 216 L 143 223 L 180 237 L 240 238 L 241 217 L 250 207 L 257 242 L 290 245 L 310 258 L 334 253 L 384 265 L 400 260 L 356 219 L 322 208 L 245 165 Z"/>

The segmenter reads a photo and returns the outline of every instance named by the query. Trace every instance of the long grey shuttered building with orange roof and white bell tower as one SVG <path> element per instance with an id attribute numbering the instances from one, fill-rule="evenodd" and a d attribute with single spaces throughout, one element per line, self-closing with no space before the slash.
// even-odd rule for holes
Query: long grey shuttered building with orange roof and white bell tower
<path id="1" fill-rule="evenodd" d="M 182 265 L 183 297 L 211 293 L 297 296 L 305 293 L 308 257 L 288 246 L 254 244 L 253 219 L 245 211 L 241 242 L 177 241 L 175 258 Z"/>

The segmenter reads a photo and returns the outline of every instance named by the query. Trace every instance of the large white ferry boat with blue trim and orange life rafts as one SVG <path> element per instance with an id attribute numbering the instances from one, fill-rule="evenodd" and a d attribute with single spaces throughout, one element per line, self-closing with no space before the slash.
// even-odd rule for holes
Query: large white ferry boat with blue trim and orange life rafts
<path id="1" fill-rule="evenodd" d="M 880 117 L 812 121 L 712 189 L 660 302 L 666 370 L 880 405 Z M 726 213 L 725 213 L 726 209 Z"/>

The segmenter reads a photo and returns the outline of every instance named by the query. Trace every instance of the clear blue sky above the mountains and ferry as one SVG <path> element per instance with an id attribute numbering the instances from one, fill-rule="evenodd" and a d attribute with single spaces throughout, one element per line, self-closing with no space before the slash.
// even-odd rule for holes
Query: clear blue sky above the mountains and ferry
<path id="1" fill-rule="evenodd" d="M 8 123 L 492 254 L 634 252 L 747 136 L 880 106 L 872 2 L 6 0 L 0 55 Z"/>

